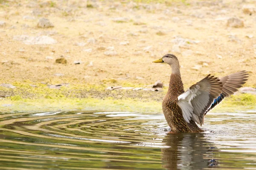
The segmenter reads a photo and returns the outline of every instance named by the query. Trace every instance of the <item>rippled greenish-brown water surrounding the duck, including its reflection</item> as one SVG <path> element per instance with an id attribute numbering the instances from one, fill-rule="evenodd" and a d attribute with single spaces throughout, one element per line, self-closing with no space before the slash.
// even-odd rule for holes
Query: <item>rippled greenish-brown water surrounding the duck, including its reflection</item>
<path id="1" fill-rule="evenodd" d="M 163 114 L 0 114 L 3 170 L 256 170 L 256 112 L 209 113 L 204 129 L 168 133 Z"/>

